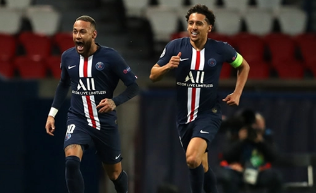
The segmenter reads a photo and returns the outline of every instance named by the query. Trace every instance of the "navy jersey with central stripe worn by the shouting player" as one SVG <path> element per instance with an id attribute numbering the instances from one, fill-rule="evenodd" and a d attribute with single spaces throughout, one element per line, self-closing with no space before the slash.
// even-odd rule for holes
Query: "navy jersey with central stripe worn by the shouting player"
<path id="1" fill-rule="evenodd" d="M 119 79 L 130 85 L 137 77 L 124 59 L 112 48 L 98 45 L 89 58 L 70 48 L 61 56 L 61 79 L 71 83 L 71 103 L 68 116 L 76 116 L 96 129 L 116 119 L 115 110 L 99 114 L 96 106 L 102 99 L 112 98 Z"/>

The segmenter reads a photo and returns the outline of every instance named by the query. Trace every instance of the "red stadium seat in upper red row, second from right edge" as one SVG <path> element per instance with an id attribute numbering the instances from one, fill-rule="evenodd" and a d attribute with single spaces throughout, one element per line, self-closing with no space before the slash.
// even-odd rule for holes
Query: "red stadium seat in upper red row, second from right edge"
<path id="1" fill-rule="evenodd" d="M 264 41 L 271 52 L 272 64 L 295 60 L 295 43 L 290 36 L 271 33 L 264 37 Z"/>

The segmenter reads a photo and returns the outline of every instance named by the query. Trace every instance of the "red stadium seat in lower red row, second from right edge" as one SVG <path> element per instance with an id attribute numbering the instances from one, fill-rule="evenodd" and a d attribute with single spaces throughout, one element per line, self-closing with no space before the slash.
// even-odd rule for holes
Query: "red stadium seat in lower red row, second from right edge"
<path id="1" fill-rule="evenodd" d="M 304 77 L 304 65 L 300 61 L 283 61 L 278 64 L 272 64 L 279 78 L 283 79 L 301 79 Z"/>

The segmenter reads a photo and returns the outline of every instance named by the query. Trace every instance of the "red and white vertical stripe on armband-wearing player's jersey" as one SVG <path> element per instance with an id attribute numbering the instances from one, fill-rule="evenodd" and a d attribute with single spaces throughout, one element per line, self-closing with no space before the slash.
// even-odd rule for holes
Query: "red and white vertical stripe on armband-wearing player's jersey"
<path id="1" fill-rule="evenodd" d="M 204 69 L 204 52 L 205 49 L 197 51 L 192 48 L 191 70 L 203 70 Z M 194 121 L 198 116 L 200 106 L 200 93 L 201 88 L 188 88 L 188 115 L 187 123 Z"/>

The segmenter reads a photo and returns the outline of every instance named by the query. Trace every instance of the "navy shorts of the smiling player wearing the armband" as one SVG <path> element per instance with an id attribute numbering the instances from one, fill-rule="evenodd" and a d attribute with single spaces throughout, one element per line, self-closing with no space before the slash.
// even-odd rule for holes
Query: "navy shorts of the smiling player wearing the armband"
<path id="1" fill-rule="evenodd" d="M 181 145 L 187 151 L 189 142 L 194 137 L 200 137 L 206 140 L 209 150 L 209 144 L 214 139 L 222 122 L 221 113 L 210 113 L 198 116 L 196 120 L 188 124 L 178 125 L 178 133 Z"/>

